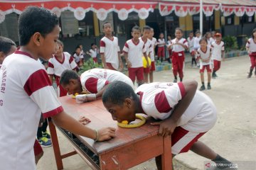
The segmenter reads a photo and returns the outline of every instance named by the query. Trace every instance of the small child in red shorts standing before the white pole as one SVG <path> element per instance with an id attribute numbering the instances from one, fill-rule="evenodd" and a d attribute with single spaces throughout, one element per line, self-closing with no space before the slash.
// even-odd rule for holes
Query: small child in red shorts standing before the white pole
<path id="1" fill-rule="evenodd" d="M 204 84 L 204 70 L 207 70 L 207 77 L 208 77 L 208 84 L 207 84 L 207 89 L 210 90 L 210 74 L 211 74 L 211 61 L 210 61 L 210 57 L 211 57 L 211 49 L 210 47 L 207 45 L 207 39 L 206 38 L 202 38 L 200 41 L 200 48 L 198 49 L 198 59 L 200 60 L 200 75 L 201 75 L 201 82 L 202 82 L 202 86 L 200 88 L 200 91 L 203 91 L 206 89 L 206 86 Z"/>

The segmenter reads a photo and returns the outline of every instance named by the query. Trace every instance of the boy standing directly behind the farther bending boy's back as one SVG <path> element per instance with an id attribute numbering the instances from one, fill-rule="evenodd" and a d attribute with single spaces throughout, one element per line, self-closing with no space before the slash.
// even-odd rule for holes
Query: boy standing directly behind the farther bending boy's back
<path id="1" fill-rule="evenodd" d="M 102 58 L 103 67 L 105 69 L 119 69 L 119 71 L 122 71 L 123 64 L 118 38 L 112 35 L 111 23 L 103 23 L 102 27 L 105 33 L 105 37 L 100 40 L 100 57 Z"/>

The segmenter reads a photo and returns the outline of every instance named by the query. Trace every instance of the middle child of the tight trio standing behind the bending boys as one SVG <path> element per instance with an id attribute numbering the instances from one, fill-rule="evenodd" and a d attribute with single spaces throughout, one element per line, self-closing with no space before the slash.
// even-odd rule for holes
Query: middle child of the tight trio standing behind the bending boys
<path id="1" fill-rule="evenodd" d="M 149 35 L 151 34 L 151 28 L 149 26 L 144 26 L 142 28 L 142 31 L 143 31 L 142 37 L 140 37 L 139 40 L 142 40 L 144 42 L 145 49 L 146 49 L 146 68 L 144 68 L 144 83 L 148 83 L 149 72 L 151 68 L 151 65 L 149 65 L 148 58 L 150 59 L 150 54 L 152 52 L 151 41 L 149 40 Z"/>

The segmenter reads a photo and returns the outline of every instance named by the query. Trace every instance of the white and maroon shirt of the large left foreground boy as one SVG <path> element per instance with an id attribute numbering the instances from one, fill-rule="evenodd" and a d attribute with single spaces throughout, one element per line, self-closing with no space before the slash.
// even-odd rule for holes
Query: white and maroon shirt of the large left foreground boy
<path id="1" fill-rule="evenodd" d="M 43 113 L 63 111 L 48 74 L 40 62 L 16 51 L 0 69 L 0 169 L 36 169 L 33 145 Z"/>

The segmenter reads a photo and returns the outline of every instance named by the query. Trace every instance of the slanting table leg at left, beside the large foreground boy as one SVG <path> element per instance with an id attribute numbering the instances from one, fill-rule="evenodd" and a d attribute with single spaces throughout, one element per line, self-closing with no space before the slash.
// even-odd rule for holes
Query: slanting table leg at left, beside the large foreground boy
<path id="1" fill-rule="evenodd" d="M 57 169 L 60 170 L 60 169 L 63 169 L 63 162 L 62 162 L 62 158 L 61 158 L 61 154 L 60 154 L 60 146 L 58 144 L 58 137 L 57 137 L 55 125 L 50 120 L 50 118 L 48 118 L 48 125 L 49 125 L 49 129 L 50 129 L 51 140 L 53 143 L 53 151 L 54 151 L 54 155 L 55 155 Z"/>

